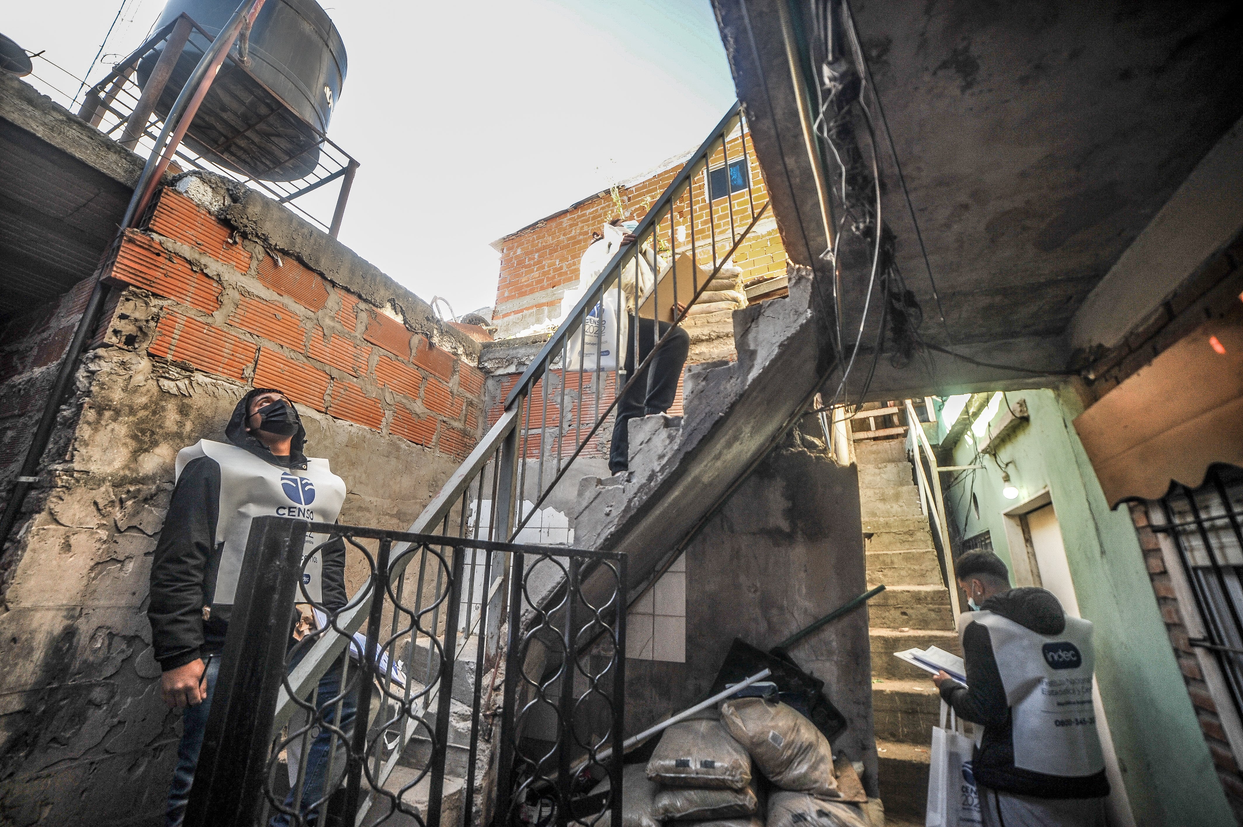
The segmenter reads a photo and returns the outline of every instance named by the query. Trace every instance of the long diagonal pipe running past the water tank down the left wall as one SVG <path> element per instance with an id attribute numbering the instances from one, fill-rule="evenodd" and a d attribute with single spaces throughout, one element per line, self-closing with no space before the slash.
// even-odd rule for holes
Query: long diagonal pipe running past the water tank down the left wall
<path id="1" fill-rule="evenodd" d="M 173 109 L 169 112 L 169 117 L 164 122 L 164 129 L 160 132 L 159 139 L 155 142 L 155 148 L 152 149 L 152 154 L 147 158 L 147 163 L 143 165 L 143 173 L 139 175 L 138 184 L 134 187 L 134 194 L 129 199 L 129 205 L 126 208 L 126 215 L 121 220 L 117 235 L 113 236 L 112 241 L 104 250 L 99 264 L 96 266 L 93 274 L 94 287 L 91 290 L 91 297 L 87 300 L 86 308 L 82 311 L 82 318 L 78 320 L 77 330 L 73 331 L 73 338 L 70 342 L 65 356 L 61 358 L 61 364 L 56 371 L 56 379 L 52 383 L 52 390 L 47 395 L 47 403 L 44 405 L 44 413 L 40 415 L 39 425 L 35 428 L 35 438 L 30 444 L 30 449 L 26 451 L 26 459 L 21 464 L 21 470 L 17 474 L 17 483 L 14 486 L 12 494 L 9 495 L 9 501 L 5 504 L 4 516 L 0 517 L 0 546 L 7 541 L 9 532 L 12 531 L 12 526 L 17 521 L 17 514 L 21 511 L 21 506 L 26 500 L 26 494 L 30 492 L 31 485 L 39 481 L 39 461 L 42 459 L 44 451 L 47 450 L 47 443 L 52 435 L 52 427 L 56 424 L 56 412 L 60 409 L 61 399 L 65 398 L 65 392 L 68 389 L 70 381 L 73 378 L 73 369 L 76 368 L 77 358 L 86 344 L 86 337 L 94 330 L 99 321 L 99 312 L 103 310 L 104 298 L 108 292 L 108 285 L 103 281 L 103 274 L 109 270 L 112 257 L 121 246 L 121 240 L 124 238 L 126 230 L 133 226 L 135 218 L 142 215 L 143 210 L 147 208 L 147 203 L 150 200 L 150 194 L 154 192 L 155 184 L 168 168 L 168 162 L 173 157 L 173 153 L 177 152 L 177 147 L 181 142 L 185 129 L 190 126 L 190 121 L 194 119 L 194 114 L 198 112 L 199 104 L 203 102 L 203 97 L 206 95 L 208 87 L 210 87 L 211 81 L 215 80 L 216 72 L 210 71 L 209 73 L 209 70 L 219 68 L 220 62 L 222 62 L 225 56 L 229 53 L 229 47 L 232 45 L 234 39 L 241 30 L 242 21 L 247 17 L 254 21 L 254 16 L 257 15 L 259 10 L 264 6 L 264 1 L 265 0 L 244 0 L 244 2 L 237 6 L 237 11 L 234 12 L 232 20 L 230 20 L 225 30 L 221 31 L 220 36 L 211 44 L 206 53 L 204 53 L 203 58 L 199 61 L 199 65 L 194 68 L 194 72 L 190 75 L 190 80 L 186 81 L 184 87 L 181 87 L 181 93 L 178 95 L 177 102 L 173 104 Z M 249 9 L 249 14 L 244 12 L 244 9 Z M 196 91 L 195 85 L 199 85 Z M 168 144 L 167 153 L 162 155 L 159 148 L 164 144 L 170 132 L 173 134 L 173 141 Z"/>

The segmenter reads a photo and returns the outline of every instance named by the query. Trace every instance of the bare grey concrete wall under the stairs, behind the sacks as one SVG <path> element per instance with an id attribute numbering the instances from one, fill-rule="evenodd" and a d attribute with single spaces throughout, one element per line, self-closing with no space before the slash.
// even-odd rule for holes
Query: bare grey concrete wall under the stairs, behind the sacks
<path id="1" fill-rule="evenodd" d="M 626 734 L 705 695 L 735 637 L 768 649 L 865 588 L 856 469 L 774 451 L 686 548 L 686 663 L 626 660 Z M 863 761 L 878 795 L 866 609 L 791 654 L 850 723 L 834 756 Z"/>

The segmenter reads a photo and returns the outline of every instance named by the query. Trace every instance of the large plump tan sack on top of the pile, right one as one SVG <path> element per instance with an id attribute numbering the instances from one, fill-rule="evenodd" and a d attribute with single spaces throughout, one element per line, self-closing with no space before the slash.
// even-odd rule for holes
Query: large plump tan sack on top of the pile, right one
<path id="1" fill-rule="evenodd" d="M 721 724 L 782 790 L 842 797 L 833 776 L 833 747 L 793 706 L 766 698 L 733 698 L 721 703 Z"/>

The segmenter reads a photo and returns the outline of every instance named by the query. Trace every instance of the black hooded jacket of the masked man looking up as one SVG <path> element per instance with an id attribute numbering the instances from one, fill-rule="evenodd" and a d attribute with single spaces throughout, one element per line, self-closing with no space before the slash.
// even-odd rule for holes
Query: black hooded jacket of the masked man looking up
<path id="1" fill-rule="evenodd" d="M 237 403 L 225 437 L 272 465 L 306 468 L 302 453 L 306 430 L 301 424 L 288 456 L 273 456 L 264 443 L 246 432 L 250 400 L 266 392 L 265 388 L 256 388 Z M 220 612 L 220 616 L 203 619 L 203 607 L 209 604 L 209 596 L 205 594 L 208 572 L 216 570 L 224 546 L 222 541 L 216 541 L 219 517 L 220 465 L 214 459 L 200 456 L 181 469 L 152 562 L 147 618 L 152 624 L 155 659 L 164 672 L 224 648 L 227 614 Z M 322 553 L 323 608 L 333 612 L 347 602 L 346 546 L 338 540 L 326 546 Z"/>

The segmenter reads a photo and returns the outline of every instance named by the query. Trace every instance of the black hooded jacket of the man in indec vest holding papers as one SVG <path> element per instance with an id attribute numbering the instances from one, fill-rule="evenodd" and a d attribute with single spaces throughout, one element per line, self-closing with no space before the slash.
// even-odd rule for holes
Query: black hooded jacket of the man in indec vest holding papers
<path id="1" fill-rule="evenodd" d="M 984 601 L 982 609 L 1014 621 L 1038 634 L 1062 634 L 1066 616 L 1062 603 L 1043 588 L 1013 588 Z M 1060 776 L 1014 766 L 1014 737 L 1011 708 L 1006 701 L 1002 675 L 993 657 L 988 627 L 972 623 L 962 634 L 967 662 L 967 686 L 956 680 L 941 683 L 941 698 L 958 718 L 984 725 L 984 737 L 972 762 L 976 781 L 986 787 L 1037 798 L 1095 798 L 1109 795 L 1105 771 L 1088 776 Z"/>

